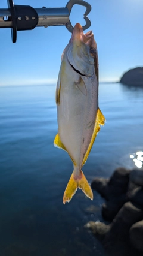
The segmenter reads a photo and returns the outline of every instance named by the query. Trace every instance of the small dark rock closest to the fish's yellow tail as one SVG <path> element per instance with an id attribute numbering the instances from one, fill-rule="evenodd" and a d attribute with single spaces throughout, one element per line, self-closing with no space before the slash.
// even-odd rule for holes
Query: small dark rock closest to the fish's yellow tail
<path id="1" fill-rule="evenodd" d="M 98 193 L 101 194 L 102 197 L 108 200 L 107 197 L 107 184 L 109 179 L 104 178 L 95 178 L 92 180 L 91 188 L 95 189 Z"/>

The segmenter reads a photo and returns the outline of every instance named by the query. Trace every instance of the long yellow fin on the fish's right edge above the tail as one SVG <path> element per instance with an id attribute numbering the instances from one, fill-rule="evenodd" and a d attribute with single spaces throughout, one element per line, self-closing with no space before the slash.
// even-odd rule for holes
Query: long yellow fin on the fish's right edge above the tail
<path id="1" fill-rule="evenodd" d="M 95 138 L 98 134 L 98 132 L 100 131 L 100 125 L 104 125 L 105 124 L 105 118 L 104 115 L 102 114 L 101 110 L 98 108 L 97 110 L 97 116 L 95 119 L 95 126 L 94 126 L 94 132 L 92 134 L 92 138 L 91 138 L 91 142 L 89 144 L 88 150 L 85 153 L 85 157 L 83 158 L 83 162 L 82 162 L 82 166 L 85 164 L 86 160 L 88 159 L 89 153 L 92 149 L 92 146 L 94 144 Z"/>

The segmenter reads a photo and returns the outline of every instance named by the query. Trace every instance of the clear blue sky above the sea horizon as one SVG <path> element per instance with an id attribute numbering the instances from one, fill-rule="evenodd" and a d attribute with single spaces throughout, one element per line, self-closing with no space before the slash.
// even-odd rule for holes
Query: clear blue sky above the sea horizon
<path id="1" fill-rule="evenodd" d="M 119 80 L 123 72 L 143 66 L 143 1 L 88 0 L 89 18 L 98 46 L 100 81 Z M 15 0 L 15 4 L 32 7 L 65 7 L 66 0 Z M 7 8 L 1 0 L 0 8 Z M 74 5 L 70 20 L 85 25 L 84 7 Z M 87 32 L 85 31 L 85 32 Z M 35 28 L 17 32 L 11 41 L 10 29 L 0 29 L 0 85 L 35 85 L 56 83 L 61 54 L 71 34 L 65 26 Z"/>

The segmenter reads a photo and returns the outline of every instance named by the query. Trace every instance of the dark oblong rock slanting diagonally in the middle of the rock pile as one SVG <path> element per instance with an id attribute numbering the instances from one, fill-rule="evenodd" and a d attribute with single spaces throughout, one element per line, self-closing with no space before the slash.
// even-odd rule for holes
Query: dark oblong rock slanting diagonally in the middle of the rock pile
<path id="1" fill-rule="evenodd" d="M 113 221 L 123 204 L 125 204 L 127 198 L 125 195 L 120 196 L 119 198 L 114 198 L 114 200 L 107 201 L 102 204 L 102 216 L 107 221 Z"/>

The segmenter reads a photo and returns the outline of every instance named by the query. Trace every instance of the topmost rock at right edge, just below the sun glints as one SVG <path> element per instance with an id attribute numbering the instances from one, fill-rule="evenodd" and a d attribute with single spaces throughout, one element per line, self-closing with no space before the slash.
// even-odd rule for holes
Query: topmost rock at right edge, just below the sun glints
<path id="1" fill-rule="evenodd" d="M 133 169 L 130 172 L 130 181 L 138 186 L 143 186 L 143 168 Z"/>

